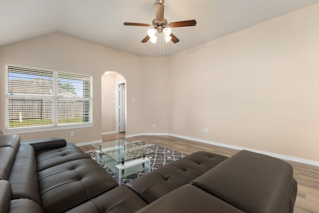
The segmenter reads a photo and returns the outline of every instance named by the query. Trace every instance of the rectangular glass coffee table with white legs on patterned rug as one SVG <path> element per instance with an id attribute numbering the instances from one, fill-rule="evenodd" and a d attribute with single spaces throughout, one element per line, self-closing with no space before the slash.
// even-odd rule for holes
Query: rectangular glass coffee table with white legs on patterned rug
<path id="1" fill-rule="evenodd" d="M 144 170 L 150 172 L 150 159 L 146 156 L 154 153 L 153 150 L 123 139 L 92 144 L 95 151 L 95 160 L 103 162 L 115 173 L 115 180 L 120 184 L 121 178 Z"/>

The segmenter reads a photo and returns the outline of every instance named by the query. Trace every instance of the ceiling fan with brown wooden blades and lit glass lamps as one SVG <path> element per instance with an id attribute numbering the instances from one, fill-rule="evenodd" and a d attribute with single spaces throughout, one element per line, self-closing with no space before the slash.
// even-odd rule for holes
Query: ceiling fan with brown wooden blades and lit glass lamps
<path id="1" fill-rule="evenodd" d="M 155 14 L 156 18 L 152 21 L 152 24 L 147 23 L 132 23 L 132 22 L 124 22 L 124 25 L 127 26 L 153 26 L 152 29 L 148 29 L 148 35 L 141 41 L 142 43 L 151 40 L 153 43 L 157 41 L 157 32 L 164 33 L 164 38 L 166 43 L 168 41 L 172 41 L 173 43 L 177 43 L 179 39 L 171 33 L 172 27 L 181 27 L 181 26 L 195 26 L 196 20 L 185 20 L 185 21 L 176 21 L 168 23 L 164 18 L 164 0 L 156 0 L 155 1 Z"/>

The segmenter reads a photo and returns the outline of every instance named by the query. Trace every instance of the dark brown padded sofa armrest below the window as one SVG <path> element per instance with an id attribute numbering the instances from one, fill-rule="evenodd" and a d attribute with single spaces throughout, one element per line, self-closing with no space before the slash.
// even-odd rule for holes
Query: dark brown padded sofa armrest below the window
<path id="1" fill-rule="evenodd" d="M 22 141 L 21 143 L 30 144 L 33 147 L 34 151 L 66 146 L 66 141 L 62 137 L 28 140 L 28 141 Z"/>

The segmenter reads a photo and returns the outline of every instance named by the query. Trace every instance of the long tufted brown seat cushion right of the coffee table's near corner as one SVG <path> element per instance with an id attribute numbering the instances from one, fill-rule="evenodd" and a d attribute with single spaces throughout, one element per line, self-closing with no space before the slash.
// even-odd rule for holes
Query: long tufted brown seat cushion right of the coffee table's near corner
<path id="1" fill-rule="evenodd" d="M 227 157 L 209 152 L 195 152 L 129 182 L 127 187 L 150 204 L 178 187 L 189 184 L 225 159 Z"/>

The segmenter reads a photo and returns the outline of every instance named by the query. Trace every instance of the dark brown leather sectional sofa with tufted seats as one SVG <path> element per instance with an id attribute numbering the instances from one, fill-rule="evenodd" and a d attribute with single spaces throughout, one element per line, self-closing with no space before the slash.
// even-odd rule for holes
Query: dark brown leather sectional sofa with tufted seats
<path id="1" fill-rule="evenodd" d="M 0 213 L 292 213 L 290 164 L 240 151 L 196 152 L 119 186 L 63 138 L 0 136 Z"/>

